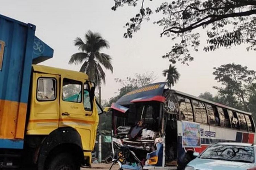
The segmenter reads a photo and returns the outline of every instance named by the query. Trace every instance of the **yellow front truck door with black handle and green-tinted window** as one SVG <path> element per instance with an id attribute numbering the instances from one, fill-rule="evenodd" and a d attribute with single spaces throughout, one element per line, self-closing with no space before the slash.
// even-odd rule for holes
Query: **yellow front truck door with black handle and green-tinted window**
<path id="1" fill-rule="evenodd" d="M 84 79 L 62 77 L 60 96 L 59 127 L 75 128 L 81 136 L 83 149 L 93 150 L 98 114 L 90 85 Z"/>

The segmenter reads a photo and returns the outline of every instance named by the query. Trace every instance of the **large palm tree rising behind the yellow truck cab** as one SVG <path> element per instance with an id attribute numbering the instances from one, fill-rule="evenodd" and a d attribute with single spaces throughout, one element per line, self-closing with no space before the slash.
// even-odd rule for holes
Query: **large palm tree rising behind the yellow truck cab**
<path id="1" fill-rule="evenodd" d="M 110 70 L 113 73 L 111 57 L 108 54 L 100 53 L 102 48 L 109 48 L 109 43 L 101 37 L 99 33 L 88 31 L 85 34 L 85 41 L 80 37 L 75 39 L 75 46 L 82 52 L 75 53 L 71 56 L 69 64 L 81 64 L 80 72 L 86 73 L 90 80 L 97 86 L 101 82 L 106 83 L 106 74 L 102 69 Z"/>

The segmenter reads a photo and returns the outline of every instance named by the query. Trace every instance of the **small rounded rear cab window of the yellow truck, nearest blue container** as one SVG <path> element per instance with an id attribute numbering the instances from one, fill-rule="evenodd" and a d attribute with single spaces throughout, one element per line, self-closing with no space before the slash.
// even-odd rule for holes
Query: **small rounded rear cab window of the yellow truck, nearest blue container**
<path id="1" fill-rule="evenodd" d="M 36 98 L 39 101 L 56 99 L 56 80 L 54 78 L 38 78 Z"/>

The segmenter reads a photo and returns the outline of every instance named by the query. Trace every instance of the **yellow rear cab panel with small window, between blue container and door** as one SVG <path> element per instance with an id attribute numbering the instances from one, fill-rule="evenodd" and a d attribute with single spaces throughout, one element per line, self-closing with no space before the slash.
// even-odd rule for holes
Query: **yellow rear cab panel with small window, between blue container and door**
<path id="1" fill-rule="evenodd" d="M 33 73 L 27 134 L 49 134 L 59 125 L 59 75 Z"/>

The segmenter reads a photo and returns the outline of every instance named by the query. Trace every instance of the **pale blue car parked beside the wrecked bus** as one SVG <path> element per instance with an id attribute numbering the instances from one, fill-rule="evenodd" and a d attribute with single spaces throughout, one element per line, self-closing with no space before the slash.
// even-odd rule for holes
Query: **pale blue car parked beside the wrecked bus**
<path id="1" fill-rule="evenodd" d="M 189 162 L 185 170 L 253 170 L 256 146 L 249 143 L 216 143 Z"/>

